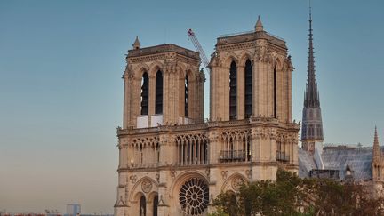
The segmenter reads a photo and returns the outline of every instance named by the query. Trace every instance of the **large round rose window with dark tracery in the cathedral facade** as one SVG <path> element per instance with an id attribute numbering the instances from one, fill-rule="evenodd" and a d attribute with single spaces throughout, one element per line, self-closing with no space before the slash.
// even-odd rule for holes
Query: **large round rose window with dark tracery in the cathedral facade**
<path id="1" fill-rule="evenodd" d="M 204 180 L 192 178 L 180 188 L 181 209 L 187 215 L 201 215 L 209 202 L 209 188 Z"/>

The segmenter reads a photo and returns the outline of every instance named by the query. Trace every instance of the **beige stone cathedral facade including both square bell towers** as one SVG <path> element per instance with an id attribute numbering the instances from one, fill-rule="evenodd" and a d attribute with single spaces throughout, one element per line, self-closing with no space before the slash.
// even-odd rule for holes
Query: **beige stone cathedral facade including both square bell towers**
<path id="1" fill-rule="evenodd" d="M 260 20 L 217 39 L 206 121 L 198 52 L 136 39 L 126 61 L 116 216 L 206 215 L 221 191 L 298 171 L 291 58 Z"/>

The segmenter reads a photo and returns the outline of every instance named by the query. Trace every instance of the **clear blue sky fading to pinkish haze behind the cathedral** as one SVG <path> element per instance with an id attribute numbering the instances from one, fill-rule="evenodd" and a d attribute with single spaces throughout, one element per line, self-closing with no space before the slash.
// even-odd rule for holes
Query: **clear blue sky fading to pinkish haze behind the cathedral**
<path id="1" fill-rule="evenodd" d="M 381 0 L 312 1 L 326 143 L 372 146 L 375 125 L 384 138 L 383 9 Z M 192 28 L 209 55 L 218 36 L 252 30 L 258 15 L 292 55 L 300 121 L 308 0 L 0 0 L 0 211 L 79 203 L 84 213 L 113 213 L 121 76 L 135 36 L 141 47 L 195 50 Z"/>

